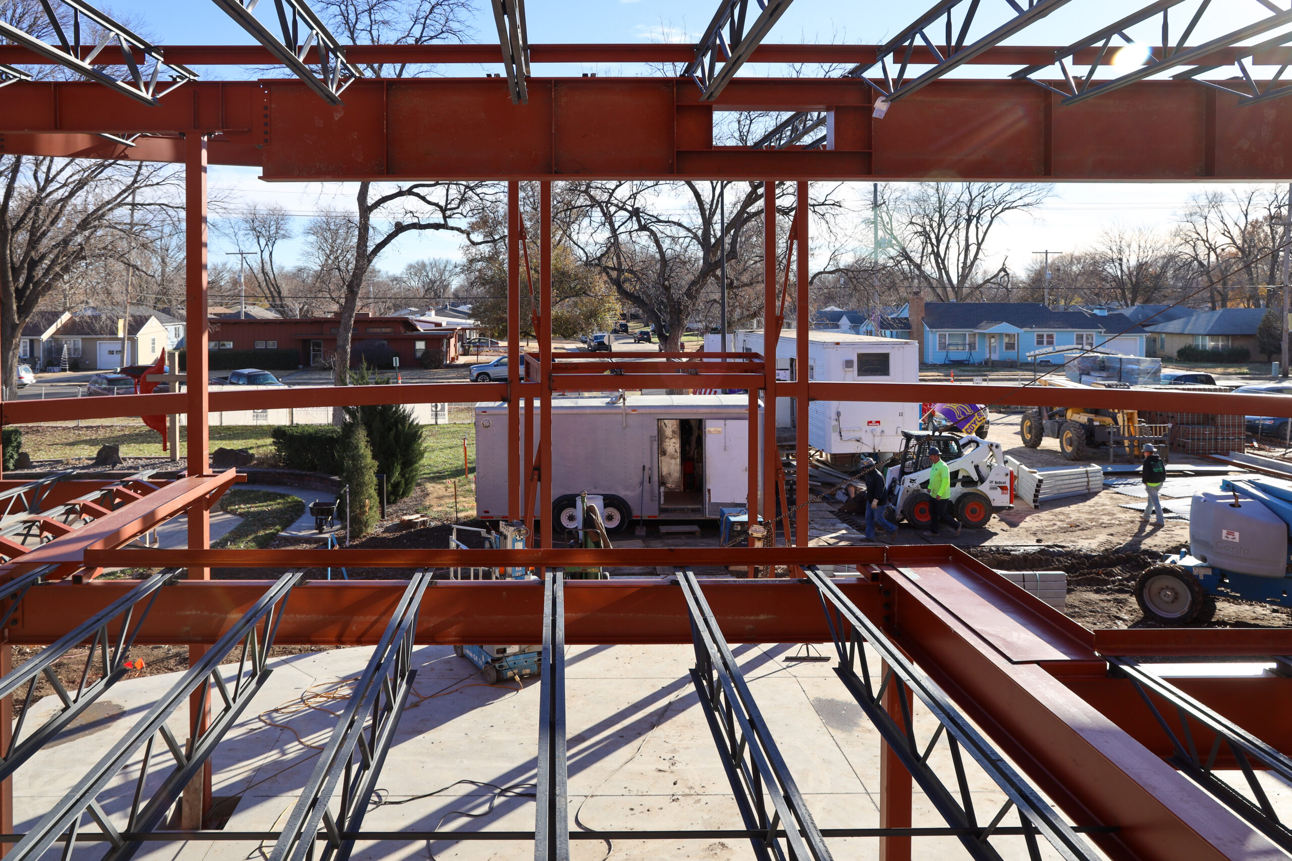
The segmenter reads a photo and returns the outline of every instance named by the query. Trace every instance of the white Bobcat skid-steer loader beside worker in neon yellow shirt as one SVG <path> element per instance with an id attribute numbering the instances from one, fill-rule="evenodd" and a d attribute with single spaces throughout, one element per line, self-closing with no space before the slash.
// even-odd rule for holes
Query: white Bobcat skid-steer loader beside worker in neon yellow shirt
<path id="1" fill-rule="evenodd" d="M 928 489 L 932 447 L 951 470 L 950 496 L 960 523 L 982 529 L 994 512 L 1014 507 L 1014 472 L 1005 465 L 1000 443 L 939 431 L 902 431 L 901 460 L 884 476 L 889 522 L 902 518 L 921 529 L 933 523 Z"/>

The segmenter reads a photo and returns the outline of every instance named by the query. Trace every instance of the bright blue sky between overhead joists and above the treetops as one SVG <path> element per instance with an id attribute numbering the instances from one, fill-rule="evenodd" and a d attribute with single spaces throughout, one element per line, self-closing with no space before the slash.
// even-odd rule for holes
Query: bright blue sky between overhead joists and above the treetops
<path id="1" fill-rule="evenodd" d="M 1048 18 L 1032 25 L 1009 41 L 1013 44 L 1061 45 L 1127 14 L 1128 9 L 1145 5 L 1128 0 L 1071 0 Z M 1193 14 L 1198 0 L 1185 0 L 1173 19 L 1173 30 Z M 492 17 L 484 0 L 477 0 L 475 41 L 491 41 Z M 752 5 L 752 4 L 751 4 Z M 899 31 L 932 0 L 893 3 L 891 0 L 796 0 L 776 23 L 769 43 L 881 43 Z M 968 5 L 968 4 L 965 4 Z M 159 44 L 247 44 L 251 37 L 208 0 L 114 0 L 105 4 L 112 14 L 137 26 L 141 35 Z M 708 25 L 716 0 L 527 0 L 526 12 L 531 43 L 642 43 L 691 41 Z M 262 15 L 271 14 L 271 4 L 262 4 Z M 982 0 L 981 35 L 994 22 L 1008 15 L 1005 0 Z M 1199 44 L 1242 23 L 1255 21 L 1267 12 L 1257 0 L 1214 0 L 1199 23 L 1190 44 Z M 1132 30 L 1138 40 L 1160 40 L 1156 23 Z M 1255 40 L 1253 40 L 1255 41 Z M 203 68 L 204 77 L 240 76 L 243 70 Z M 451 67 L 443 74 L 481 74 L 475 67 Z M 495 71 L 495 70 L 490 70 Z M 536 66 L 535 75 L 576 75 L 580 71 L 601 74 L 646 74 L 638 67 L 581 68 L 576 66 Z M 968 67 L 963 76 L 999 75 L 1005 70 Z M 1009 70 L 1012 71 L 1012 70 Z M 749 75 L 774 75 L 766 66 L 747 66 Z M 212 186 L 234 200 L 275 201 L 300 213 L 297 225 L 304 227 L 309 213 L 324 205 L 353 205 L 351 191 L 337 186 L 262 183 L 255 169 L 213 168 Z M 1182 205 L 1199 185 L 1061 185 L 1054 198 L 1031 216 L 1012 218 L 999 228 L 992 244 L 995 258 L 1008 257 L 1013 268 L 1022 268 L 1039 249 L 1074 250 L 1092 243 L 1099 231 L 1120 222 L 1129 226 L 1151 226 L 1171 230 Z M 860 191 L 860 188 L 859 188 Z M 293 244 L 297 247 L 298 244 Z M 214 259 L 231 250 L 218 236 L 213 241 Z M 292 248 L 289 248 L 289 252 Z M 419 236 L 391 248 L 379 265 L 399 270 L 420 257 L 457 257 L 457 243 L 448 236 Z M 229 258 L 233 259 L 233 258 Z"/>

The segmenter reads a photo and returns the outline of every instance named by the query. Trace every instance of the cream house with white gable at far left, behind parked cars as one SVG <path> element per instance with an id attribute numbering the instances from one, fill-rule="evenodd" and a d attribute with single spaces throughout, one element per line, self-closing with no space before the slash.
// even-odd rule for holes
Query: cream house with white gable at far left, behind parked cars
<path id="1" fill-rule="evenodd" d="M 68 316 L 54 330 L 53 341 L 58 355 L 62 355 L 66 346 L 68 358 L 81 370 L 115 370 L 132 364 L 152 364 L 171 337 L 159 316 L 174 320 L 168 314 L 137 305 L 130 306 L 128 324 L 111 312 L 85 309 Z"/>

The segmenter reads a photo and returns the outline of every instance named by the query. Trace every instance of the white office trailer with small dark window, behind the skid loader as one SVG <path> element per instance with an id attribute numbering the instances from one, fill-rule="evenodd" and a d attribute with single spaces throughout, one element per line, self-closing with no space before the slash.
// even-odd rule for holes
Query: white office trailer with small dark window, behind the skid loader
<path id="1" fill-rule="evenodd" d="M 795 380 L 798 345 L 795 329 L 776 341 L 776 380 Z M 712 338 L 712 343 L 711 339 Z M 727 336 L 731 352 L 762 354 L 761 329 Z M 705 337 L 705 350 L 720 350 L 722 336 Z M 876 338 L 850 332 L 808 333 L 808 378 L 817 382 L 920 382 L 917 341 Z M 776 398 L 776 426 L 795 426 L 795 399 Z M 808 444 L 826 454 L 901 452 L 902 431 L 920 430 L 920 404 L 814 400 L 808 407 Z"/>

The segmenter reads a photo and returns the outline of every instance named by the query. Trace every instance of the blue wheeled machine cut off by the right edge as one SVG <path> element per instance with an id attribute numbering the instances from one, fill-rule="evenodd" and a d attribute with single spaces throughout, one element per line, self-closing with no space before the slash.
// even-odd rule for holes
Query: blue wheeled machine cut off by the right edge
<path id="1" fill-rule="evenodd" d="M 1134 595 L 1149 618 L 1167 625 L 1205 622 L 1216 596 L 1292 607 L 1288 528 L 1292 488 L 1225 479 L 1220 492 L 1195 493 L 1189 552 L 1168 555 L 1140 574 Z"/>

